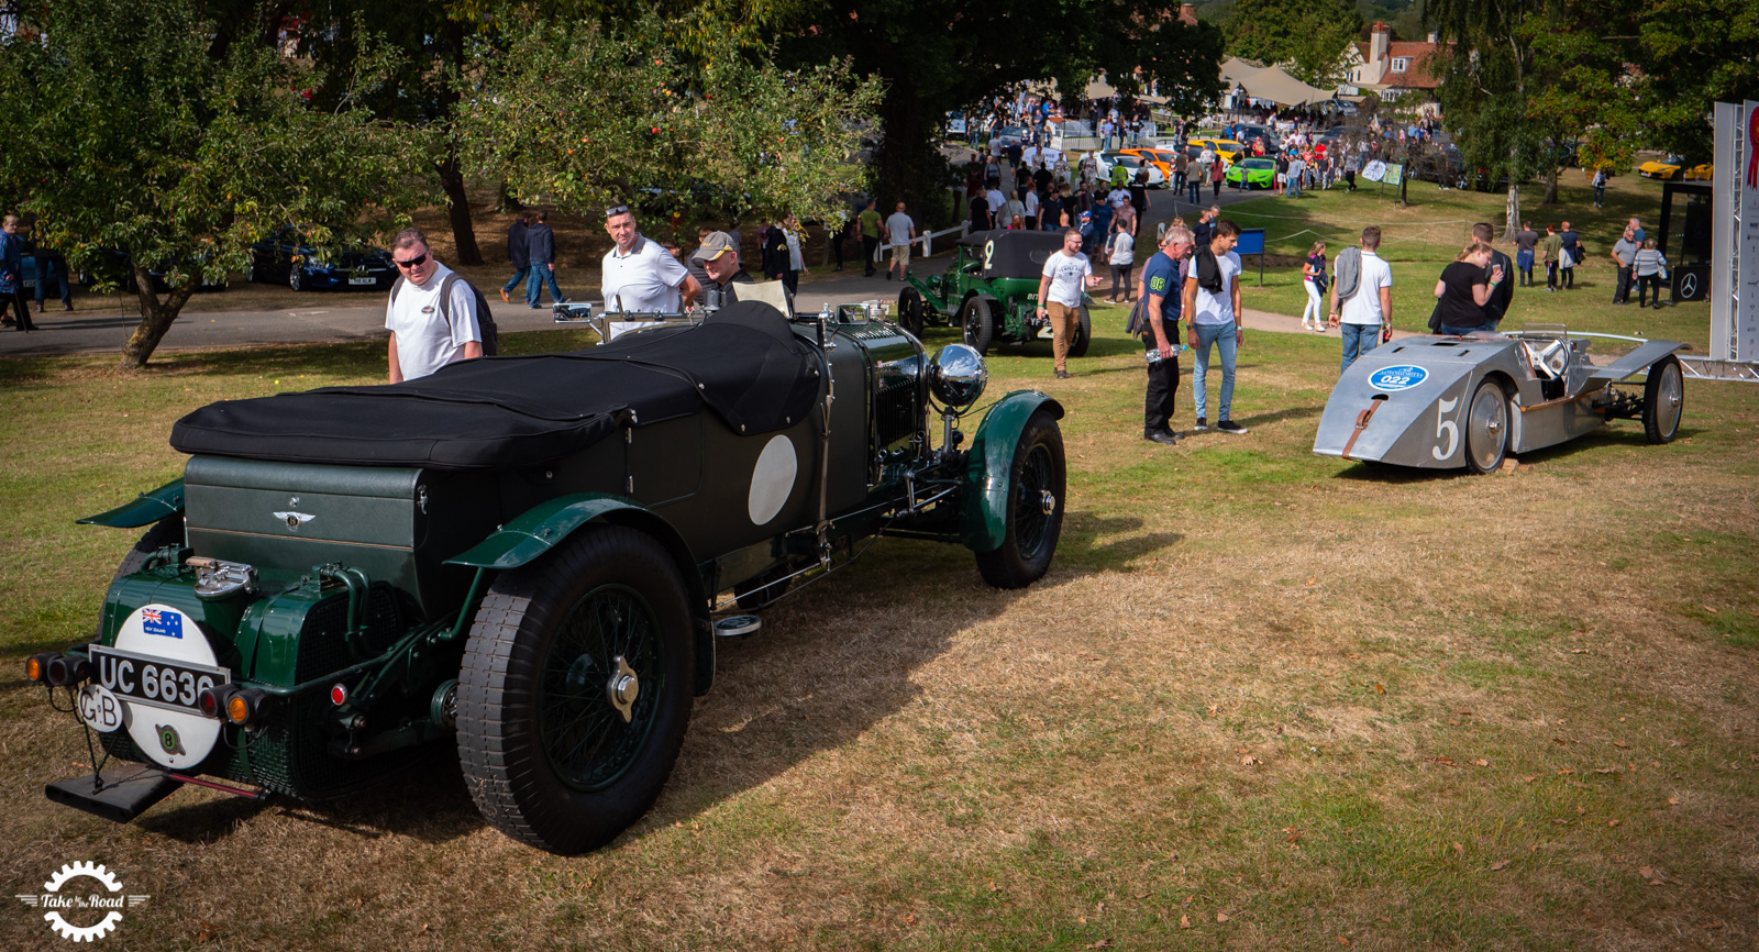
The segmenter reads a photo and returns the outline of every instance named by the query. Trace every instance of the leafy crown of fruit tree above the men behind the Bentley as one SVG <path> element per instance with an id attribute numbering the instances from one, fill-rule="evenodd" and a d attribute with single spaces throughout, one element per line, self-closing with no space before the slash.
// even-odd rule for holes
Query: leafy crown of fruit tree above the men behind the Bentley
<path id="1" fill-rule="evenodd" d="M 521 201 L 640 204 L 679 225 L 711 213 L 834 216 L 865 185 L 855 153 L 878 83 L 841 62 L 783 70 L 732 35 L 697 56 L 667 37 L 653 18 L 577 19 L 478 46 L 459 111 L 471 167 Z"/>

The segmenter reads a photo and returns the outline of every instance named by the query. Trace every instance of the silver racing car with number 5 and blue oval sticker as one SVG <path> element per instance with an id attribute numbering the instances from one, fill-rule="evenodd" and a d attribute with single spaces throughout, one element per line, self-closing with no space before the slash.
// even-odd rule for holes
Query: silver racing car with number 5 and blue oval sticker
<path id="1" fill-rule="evenodd" d="M 1636 347 L 1597 366 L 1588 338 Z M 1574 440 L 1611 419 L 1641 419 L 1648 442 L 1666 443 L 1680 431 L 1685 406 L 1673 355 L 1685 347 L 1569 333 L 1560 324 L 1395 340 L 1339 377 L 1314 452 L 1486 473 L 1511 452 Z"/>

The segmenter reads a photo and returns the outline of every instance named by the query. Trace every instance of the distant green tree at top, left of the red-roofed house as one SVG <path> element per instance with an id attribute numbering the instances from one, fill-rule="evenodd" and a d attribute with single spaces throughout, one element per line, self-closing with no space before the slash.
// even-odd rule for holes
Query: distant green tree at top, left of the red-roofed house
<path id="1" fill-rule="evenodd" d="M 1360 30 L 1354 0 L 1238 0 L 1228 53 L 1281 63 L 1309 86 L 1335 86 L 1349 76 L 1344 51 Z"/>

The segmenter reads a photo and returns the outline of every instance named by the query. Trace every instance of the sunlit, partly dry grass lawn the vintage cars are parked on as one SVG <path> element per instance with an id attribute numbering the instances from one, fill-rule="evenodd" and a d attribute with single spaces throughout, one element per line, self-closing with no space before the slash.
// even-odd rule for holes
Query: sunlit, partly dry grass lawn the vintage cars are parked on
<path id="1" fill-rule="evenodd" d="M 0 361 L 4 885 L 107 864 L 151 896 L 120 948 L 1759 945 L 1759 394 L 1690 384 L 1662 447 L 1618 422 L 1499 475 L 1381 472 L 1310 452 L 1335 338 L 1252 334 L 1252 433 L 1166 449 L 1122 320 L 1096 313 L 1068 382 L 1036 348 L 990 361 L 992 392 L 1068 406 L 1043 582 L 876 546 L 721 646 L 658 806 L 575 859 L 487 829 L 443 750 L 336 802 L 47 804 L 86 746 L 18 672 L 88 637 L 132 542 L 74 519 L 176 477 L 190 408 L 383 355 Z M 0 947 L 63 940 L 18 906 Z"/>

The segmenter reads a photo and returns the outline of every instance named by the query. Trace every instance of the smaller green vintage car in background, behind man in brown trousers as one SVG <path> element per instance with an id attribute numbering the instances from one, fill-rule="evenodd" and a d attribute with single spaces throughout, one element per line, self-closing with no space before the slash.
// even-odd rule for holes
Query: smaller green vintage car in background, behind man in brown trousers
<path id="1" fill-rule="evenodd" d="M 966 343 L 987 354 L 997 343 L 1050 340 L 1050 320 L 1038 317 L 1038 282 L 1045 259 L 1062 248 L 1061 231 L 982 231 L 959 239 L 959 252 L 945 275 L 906 275 L 909 287 L 897 294 L 897 320 L 922 336 L 931 324 L 955 324 Z M 1069 357 L 1087 354 L 1092 320 L 1082 292 L 1080 322 Z"/>

